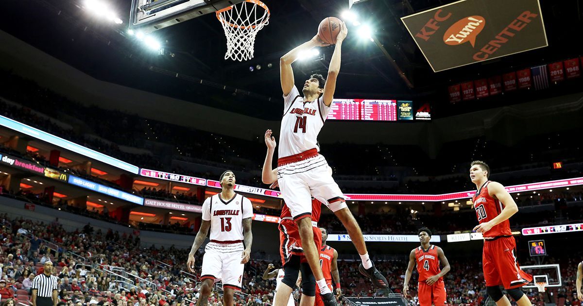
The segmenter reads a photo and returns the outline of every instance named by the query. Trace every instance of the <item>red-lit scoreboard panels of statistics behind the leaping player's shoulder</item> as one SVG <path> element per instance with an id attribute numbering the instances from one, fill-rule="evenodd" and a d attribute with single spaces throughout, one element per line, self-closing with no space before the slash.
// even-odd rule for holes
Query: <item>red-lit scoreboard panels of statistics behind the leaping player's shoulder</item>
<path id="1" fill-rule="evenodd" d="M 396 100 L 334 99 L 327 119 L 396 121 Z"/>

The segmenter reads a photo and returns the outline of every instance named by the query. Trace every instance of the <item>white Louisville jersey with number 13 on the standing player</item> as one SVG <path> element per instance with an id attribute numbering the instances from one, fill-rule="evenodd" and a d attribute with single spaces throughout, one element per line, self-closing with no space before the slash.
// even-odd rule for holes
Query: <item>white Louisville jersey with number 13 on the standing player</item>
<path id="1" fill-rule="evenodd" d="M 210 241 L 243 241 L 243 219 L 252 216 L 251 201 L 240 194 L 229 201 L 216 194 L 202 205 L 202 220 L 210 221 Z"/>

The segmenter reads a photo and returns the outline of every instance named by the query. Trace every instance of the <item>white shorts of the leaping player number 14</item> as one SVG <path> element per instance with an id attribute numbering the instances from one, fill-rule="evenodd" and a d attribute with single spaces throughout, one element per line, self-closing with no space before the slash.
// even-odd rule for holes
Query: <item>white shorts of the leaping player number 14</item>
<path id="1" fill-rule="evenodd" d="M 332 212 L 347 207 L 342 191 L 332 178 L 332 169 L 320 154 L 279 166 L 278 184 L 294 220 L 311 215 L 312 196 Z"/>

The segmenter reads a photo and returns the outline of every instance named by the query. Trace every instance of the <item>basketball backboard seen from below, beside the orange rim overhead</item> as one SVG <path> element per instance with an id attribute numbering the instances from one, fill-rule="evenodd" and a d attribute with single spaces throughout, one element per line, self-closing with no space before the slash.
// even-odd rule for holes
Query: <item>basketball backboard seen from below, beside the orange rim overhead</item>
<path id="1" fill-rule="evenodd" d="M 129 29 L 149 33 L 244 0 L 132 0 Z"/>

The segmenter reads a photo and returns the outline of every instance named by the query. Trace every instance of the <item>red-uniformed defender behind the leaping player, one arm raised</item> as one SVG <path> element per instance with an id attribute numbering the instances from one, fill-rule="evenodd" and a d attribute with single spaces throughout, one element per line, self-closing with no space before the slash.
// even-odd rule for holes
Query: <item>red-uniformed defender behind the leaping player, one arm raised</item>
<path id="1" fill-rule="evenodd" d="M 276 147 L 275 139 L 271 136 L 271 131 L 265 131 L 265 145 L 267 146 L 267 154 L 265 156 L 265 163 L 261 173 L 261 180 L 265 184 L 272 184 L 272 187 L 278 184 L 278 170 L 272 169 L 273 151 Z M 318 220 L 322 209 L 322 203 L 316 199 L 312 199 L 312 242 L 321 245 L 322 234 L 319 230 Z M 273 304 L 276 306 L 286 306 L 289 302 L 289 296 L 296 287 L 296 280 L 301 272 L 303 278 L 301 279 L 301 306 L 313 306 L 315 290 L 315 279 L 310 266 L 308 265 L 304 256 L 304 245 L 300 239 L 300 233 L 296 222 L 291 217 L 291 211 L 287 205 L 283 205 L 282 213 L 280 214 L 279 223 L 279 242 L 280 255 L 282 258 L 283 278 L 282 282 L 278 284 L 277 294 Z"/>

